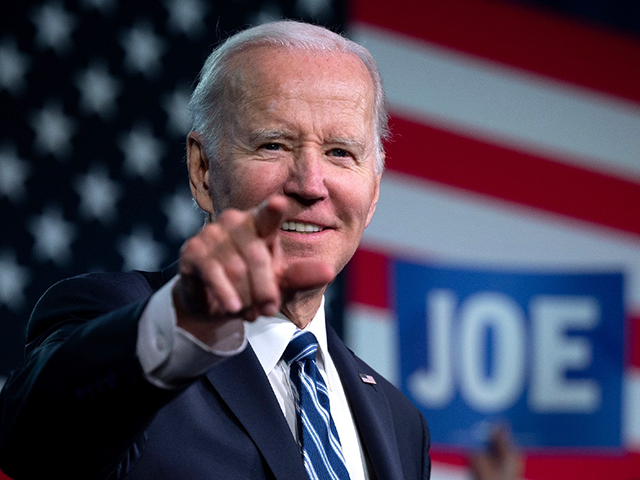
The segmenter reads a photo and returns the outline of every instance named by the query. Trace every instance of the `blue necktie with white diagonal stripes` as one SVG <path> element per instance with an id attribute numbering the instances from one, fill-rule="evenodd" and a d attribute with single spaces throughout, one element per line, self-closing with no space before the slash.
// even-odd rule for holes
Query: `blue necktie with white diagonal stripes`
<path id="1" fill-rule="evenodd" d="M 290 367 L 296 397 L 304 467 L 311 479 L 348 479 L 340 438 L 329 411 L 327 385 L 316 365 L 317 351 L 315 335 L 298 330 L 282 354 Z"/>

